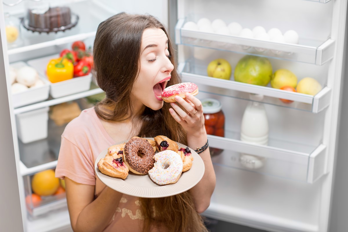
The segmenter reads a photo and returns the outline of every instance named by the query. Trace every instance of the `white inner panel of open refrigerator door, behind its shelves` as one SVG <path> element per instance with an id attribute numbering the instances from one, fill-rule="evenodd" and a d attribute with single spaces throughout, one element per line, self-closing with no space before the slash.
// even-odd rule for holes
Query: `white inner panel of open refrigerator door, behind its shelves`
<path id="1" fill-rule="evenodd" d="M 345 27 L 335 24 L 335 22 L 341 20 L 343 24 L 345 23 L 343 19 L 346 14 L 344 16 L 339 14 L 343 11 L 346 13 L 345 7 L 346 3 L 340 1 L 329 1 L 322 4 L 303 0 L 179 0 L 178 20 L 197 22 L 203 17 L 211 21 L 220 18 L 227 24 L 238 22 L 243 28 L 249 29 L 263 26 L 266 31 L 273 27 L 280 29 L 283 33 L 287 30 L 295 30 L 300 37 L 299 45 L 318 46 L 329 38 L 333 38 L 336 40 L 335 42 L 340 42 L 337 46 L 343 48 L 341 39 L 344 37 L 344 32 L 339 30 L 344 30 Z M 333 35 L 331 35 L 332 32 Z M 176 34 L 176 38 L 178 36 L 180 37 Z M 178 40 L 176 39 L 176 41 Z M 179 63 L 188 64 L 186 72 L 204 76 L 207 76 L 206 67 L 210 61 L 224 58 L 234 69 L 239 59 L 245 55 L 245 53 L 223 51 L 224 49 L 220 49 L 220 47 L 214 50 L 201 45 L 199 45 L 200 47 L 191 45 L 178 45 Z M 329 146 L 330 150 L 327 153 L 330 157 L 326 160 L 325 157 L 322 158 L 325 169 L 326 165 L 329 165 L 326 171 L 329 174 L 319 178 L 313 184 L 303 183 L 302 180 L 294 181 L 296 178 L 288 181 L 284 178 L 270 177 L 269 175 L 272 175 L 270 172 L 266 173 L 268 175 L 260 175 L 255 173 L 257 170 L 245 171 L 245 168 L 240 168 L 238 165 L 229 165 L 233 159 L 236 160 L 234 157 L 238 157 L 238 153 L 233 151 L 233 147 L 225 148 L 220 157 L 213 157 L 217 185 L 211 205 L 204 213 L 206 216 L 267 231 L 324 232 L 327 230 L 332 178 L 330 162 L 334 156 L 334 122 L 338 112 L 338 105 L 333 104 L 333 97 L 335 97 L 334 101 L 338 101 L 338 85 L 341 78 L 340 55 L 340 51 L 336 51 L 335 58 L 323 65 L 290 62 L 269 57 L 273 71 L 280 68 L 289 69 L 298 76 L 298 80 L 313 77 L 322 86 L 335 87 L 330 106 L 317 114 L 306 112 L 308 111 L 306 107 L 303 109 L 298 107 L 301 110 L 296 110 L 290 109 L 291 106 L 288 108 L 272 104 L 265 106 L 270 139 L 302 144 L 308 146 L 309 150 L 313 149 L 311 146 L 316 147 L 321 143 Z M 197 97 L 213 97 L 222 102 L 226 115 L 226 131 L 234 131 L 234 136 L 238 139 L 240 122 L 248 101 L 242 100 L 238 96 L 234 98 L 226 96 L 223 94 L 223 89 L 209 87 L 208 80 L 206 84 L 199 85 L 199 88 L 200 94 Z M 215 137 L 213 138 L 215 141 Z M 224 141 L 224 139 L 220 140 Z M 224 144 L 224 142 L 220 144 Z M 216 142 L 215 145 L 218 147 L 219 142 Z M 293 147 L 293 149 L 297 148 Z M 290 163 L 291 161 L 288 163 L 289 167 Z M 282 167 L 280 162 L 274 162 L 274 164 L 276 168 Z M 306 171 L 306 167 L 300 166 L 290 167 L 290 169 L 293 169 L 292 172 Z M 262 173 L 262 171 L 260 172 Z"/>

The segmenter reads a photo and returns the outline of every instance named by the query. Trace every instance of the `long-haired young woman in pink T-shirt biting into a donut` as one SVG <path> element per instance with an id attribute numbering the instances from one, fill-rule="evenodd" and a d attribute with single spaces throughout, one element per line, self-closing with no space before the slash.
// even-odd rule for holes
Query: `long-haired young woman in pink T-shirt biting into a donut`
<path id="1" fill-rule="evenodd" d="M 56 176 L 65 179 L 74 231 L 207 231 L 199 213 L 215 187 L 209 149 L 199 153 L 201 181 L 172 197 L 125 195 L 94 171 L 101 151 L 133 136 L 165 135 L 192 148 L 206 144 L 201 102 L 190 94 L 171 104 L 160 97 L 166 86 L 181 82 L 173 54 L 165 27 L 150 15 L 120 13 L 98 26 L 93 58 L 106 98 L 66 126 L 56 167 Z"/>

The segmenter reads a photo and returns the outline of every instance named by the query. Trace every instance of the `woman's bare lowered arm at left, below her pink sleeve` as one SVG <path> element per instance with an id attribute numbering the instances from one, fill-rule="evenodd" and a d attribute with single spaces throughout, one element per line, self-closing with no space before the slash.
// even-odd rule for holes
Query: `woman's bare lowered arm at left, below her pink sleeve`
<path id="1" fill-rule="evenodd" d="M 79 184 L 68 177 L 65 177 L 65 185 L 73 231 L 103 231 L 115 213 L 122 193 L 105 186 L 94 200 L 94 185 Z"/>

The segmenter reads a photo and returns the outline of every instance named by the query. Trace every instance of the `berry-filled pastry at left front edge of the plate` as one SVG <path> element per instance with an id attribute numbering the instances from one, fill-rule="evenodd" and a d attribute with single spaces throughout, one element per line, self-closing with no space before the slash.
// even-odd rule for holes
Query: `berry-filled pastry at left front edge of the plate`
<path id="1" fill-rule="evenodd" d="M 98 169 L 101 173 L 111 176 L 126 179 L 129 169 L 123 162 L 123 157 L 119 157 L 118 154 L 106 155 L 97 163 Z"/>

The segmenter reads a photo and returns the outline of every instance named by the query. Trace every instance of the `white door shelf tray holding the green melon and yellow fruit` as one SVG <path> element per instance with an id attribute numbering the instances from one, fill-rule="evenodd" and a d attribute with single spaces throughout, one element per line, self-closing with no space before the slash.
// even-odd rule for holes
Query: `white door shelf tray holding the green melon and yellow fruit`
<path id="1" fill-rule="evenodd" d="M 308 94 L 284 91 L 271 87 L 251 85 L 234 80 L 223 80 L 206 76 L 206 66 L 196 63 L 180 63 L 178 70 L 182 80 L 193 82 L 199 87 L 199 91 L 217 95 L 235 97 L 250 100 L 250 94 L 263 95 L 262 103 L 288 107 L 318 113 L 330 104 L 331 89 L 324 87 L 315 96 Z M 233 74 L 231 75 L 233 77 Z M 232 79 L 232 78 L 231 78 Z M 294 101 L 290 104 L 283 103 L 279 98 Z"/>

